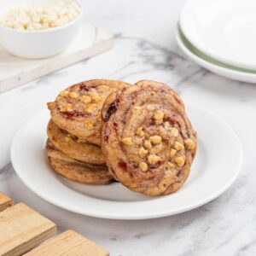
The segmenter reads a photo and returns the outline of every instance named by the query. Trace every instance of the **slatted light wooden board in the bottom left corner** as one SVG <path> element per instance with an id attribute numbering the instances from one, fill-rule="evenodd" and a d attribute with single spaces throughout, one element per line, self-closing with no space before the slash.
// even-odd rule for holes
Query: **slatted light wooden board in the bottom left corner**
<path id="1" fill-rule="evenodd" d="M 56 224 L 48 218 L 23 203 L 13 206 L 13 201 L 0 192 L 0 256 L 109 255 L 73 230 L 58 236 L 55 233 Z"/>

